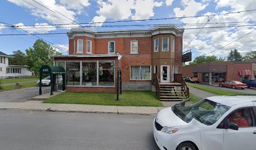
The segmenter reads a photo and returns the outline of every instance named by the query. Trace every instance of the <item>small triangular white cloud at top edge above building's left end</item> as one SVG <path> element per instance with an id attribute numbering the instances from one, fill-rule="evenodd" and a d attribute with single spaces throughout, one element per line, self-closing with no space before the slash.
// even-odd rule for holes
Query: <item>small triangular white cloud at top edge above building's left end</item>
<path id="1" fill-rule="evenodd" d="M 88 0 L 60 0 L 61 4 L 65 5 L 68 9 L 73 9 L 80 14 L 80 12 L 83 10 L 83 8 L 86 8 L 90 5 L 90 2 Z"/>

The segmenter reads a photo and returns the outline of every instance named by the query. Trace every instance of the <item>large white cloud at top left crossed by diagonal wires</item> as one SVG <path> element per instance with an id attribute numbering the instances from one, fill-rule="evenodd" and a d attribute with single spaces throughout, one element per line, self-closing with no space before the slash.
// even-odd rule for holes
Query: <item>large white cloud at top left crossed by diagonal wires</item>
<path id="1" fill-rule="evenodd" d="M 70 23 L 72 21 L 76 21 L 75 11 L 68 10 L 61 4 L 58 4 L 55 0 L 47 0 L 47 1 L 36 0 L 36 2 L 40 3 L 41 5 L 45 6 L 46 8 L 44 8 L 40 4 L 36 3 L 35 1 L 31 1 L 31 0 L 26 0 L 30 4 L 28 4 L 27 2 L 24 2 L 24 1 L 19 1 L 19 0 L 8 0 L 8 1 L 13 2 L 14 4 L 21 6 L 23 8 L 29 9 L 30 13 L 33 16 L 41 17 L 41 18 L 46 19 L 47 21 L 54 23 L 54 24 Z M 69 3 L 67 3 L 67 2 L 68 1 L 64 2 L 65 6 L 66 5 L 70 6 L 70 8 L 71 8 L 71 6 L 77 7 L 77 2 L 75 2 L 75 4 L 72 4 L 72 2 L 74 2 L 74 1 L 69 1 Z M 35 8 L 31 4 L 36 6 L 37 8 Z M 80 7 L 82 7 L 82 4 Z M 83 7 L 85 7 L 85 6 L 83 6 Z M 49 9 L 51 9 L 51 11 Z M 57 11 L 60 12 L 62 15 L 60 13 L 58 13 Z"/>

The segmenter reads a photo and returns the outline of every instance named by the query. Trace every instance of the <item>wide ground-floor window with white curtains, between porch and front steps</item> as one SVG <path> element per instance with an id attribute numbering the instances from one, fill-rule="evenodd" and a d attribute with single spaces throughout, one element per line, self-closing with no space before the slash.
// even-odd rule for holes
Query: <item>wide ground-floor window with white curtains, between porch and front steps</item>
<path id="1" fill-rule="evenodd" d="M 131 66 L 131 80 L 151 80 L 151 67 Z"/>

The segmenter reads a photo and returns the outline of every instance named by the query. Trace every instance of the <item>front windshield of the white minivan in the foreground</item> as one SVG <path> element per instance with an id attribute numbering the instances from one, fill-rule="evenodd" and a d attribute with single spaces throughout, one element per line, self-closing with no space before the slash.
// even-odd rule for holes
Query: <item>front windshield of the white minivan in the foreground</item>
<path id="1" fill-rule="evenodd" d="M 173 112 L 186 123 L 196 119 L 207 126 L 215 124 L 228 109 L 230 109 L 229 106 L 209 99 L 203 99 L 198 103 L 182 101 L 172 107 Z"/>

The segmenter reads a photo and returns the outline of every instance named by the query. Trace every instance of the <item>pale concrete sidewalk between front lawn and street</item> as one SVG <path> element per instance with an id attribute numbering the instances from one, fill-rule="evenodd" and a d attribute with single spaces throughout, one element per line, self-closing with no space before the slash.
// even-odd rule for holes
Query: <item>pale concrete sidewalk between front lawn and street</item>
<path id="1" fill-rule="evenodd" d="M 41 101 L 0 103 L 0 110 L 53 111 L 68 113 L 111 113 L 156 115 L 164 107 L 100 106 L 83 104 L 45 104 Z"/>

